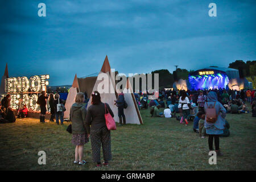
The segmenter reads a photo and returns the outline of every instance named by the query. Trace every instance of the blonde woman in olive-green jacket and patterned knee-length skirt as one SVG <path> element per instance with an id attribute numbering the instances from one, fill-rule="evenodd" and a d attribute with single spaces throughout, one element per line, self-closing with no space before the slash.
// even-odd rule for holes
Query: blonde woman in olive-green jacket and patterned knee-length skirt
<path id="1" fill-rule="evenodd" d="M 85 129 L 86 107 L 84 93 L 76 94 L 75 103 L 71 106 L 69 119 L 72 122 L 72 144 L 75 148 L 75 161 L 73 163 L 84 165 L 84 144 L 89 142 L 89 135 Z M 57 118 L 56 118 L 57 119 Z"/>

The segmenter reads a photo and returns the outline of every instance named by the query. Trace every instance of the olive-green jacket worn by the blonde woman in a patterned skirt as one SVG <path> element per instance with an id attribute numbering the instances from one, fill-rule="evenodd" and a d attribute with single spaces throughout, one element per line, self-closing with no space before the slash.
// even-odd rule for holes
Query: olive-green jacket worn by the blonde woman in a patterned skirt
<path id="1" fill-rule="evenodd" d="M 72 134 L 84 134 L 86 107 L 85 103 L 75 103 L 70 109 L 69 119 L 72 122 Z"/>

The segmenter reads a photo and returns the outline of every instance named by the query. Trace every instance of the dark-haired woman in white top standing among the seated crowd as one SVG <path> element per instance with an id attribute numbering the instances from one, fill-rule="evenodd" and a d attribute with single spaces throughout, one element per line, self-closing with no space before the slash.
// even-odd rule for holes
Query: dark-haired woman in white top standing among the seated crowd
<path id="1" fill-rule="evenodd" d="M 189 102 L 189 99 L 187 97 L 187 93 L 185 90 L 182 90 L 181 92 L 181 97 L 179 101 L 179 110 L 181 111 L 182 117 L 180 119 L 180 123 L 183 123 L 183 119 L 185 121 L 185 126 L 188 125 L 188 118 L 190 115 L 190 110 L 191 110 L 191 104 Z"/>

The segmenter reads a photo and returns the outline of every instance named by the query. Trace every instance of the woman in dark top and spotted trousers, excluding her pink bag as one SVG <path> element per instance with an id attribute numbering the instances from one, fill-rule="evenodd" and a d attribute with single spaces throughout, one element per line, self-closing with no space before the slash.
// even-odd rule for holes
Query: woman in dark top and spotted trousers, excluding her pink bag
<path id="1" fill-rule="evenodd" d="M 106 127 L 105 113 L 114 117 L 113 111 L 107 103 L 101 102 L 100 93 L 92 92 L 92 105 L 89 106 L 86 114 L 86 131 L 90 134 L 92 144 L 92 162 L 101 166 L 101 145 L 104 158 L 104 166 L 108 166 L 112 159 L 110 130 Z"/>

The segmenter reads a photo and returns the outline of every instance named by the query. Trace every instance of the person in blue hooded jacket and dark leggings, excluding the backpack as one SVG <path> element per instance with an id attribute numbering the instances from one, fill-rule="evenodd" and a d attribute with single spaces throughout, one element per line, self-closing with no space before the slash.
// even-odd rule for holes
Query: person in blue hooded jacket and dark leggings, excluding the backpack
<path id="1" fill-rule="evenodd" d="M 214 105 L 214 108 L 216 109 L 217 114 L 217 121 L 215 123 L 209 123 L 207 122 L 207 108 L 210 105 Z M 207 106 L 208 105 L 208 106 Z M 213 151 L 213 138 L 214 138 L 214 145 L 217 156 L 223 155 L 220 151 L 220 135 L 223 134 L 224 125 L 225 125 L 225 117 L 226 117 L 226 109 L 220 102 L 218 102 L 217 94 L 216 92 L 209 92 L 207 95 L 207 103 L 204 104 L 204 111 L 206 113 L 205 116 L 205 123 L 204 127 L 206 129 L 206 133 L 209 135 L 208 137 L 208 144 L 209 144 L 209 150 Z"/>

